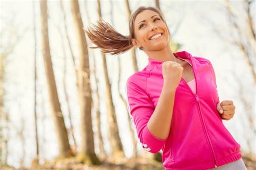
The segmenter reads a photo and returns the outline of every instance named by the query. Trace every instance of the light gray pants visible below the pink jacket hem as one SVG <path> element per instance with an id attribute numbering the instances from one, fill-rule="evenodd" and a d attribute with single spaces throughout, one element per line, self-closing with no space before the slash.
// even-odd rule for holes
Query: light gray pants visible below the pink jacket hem
<path id="1" fill-rule="evenodd" d="M 225 165 L 221 165 L 217 168 L 212 168 L 212 169 L 218 169 L 218 170 L 247 170 L 245 166 L 245 162 L 241 159 L 236 160 L 234 162 L 230 162 Z"/>

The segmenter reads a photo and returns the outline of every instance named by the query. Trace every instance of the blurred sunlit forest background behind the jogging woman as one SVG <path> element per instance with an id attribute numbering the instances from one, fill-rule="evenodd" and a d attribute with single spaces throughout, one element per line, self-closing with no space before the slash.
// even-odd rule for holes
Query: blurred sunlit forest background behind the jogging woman
<path id="1" fill-rule="evenodd" d="M 129 34 L 138 6 L 157 6 L 173 52 L 211 60 L 223 121 L 255 166 L 255 2 L 248 0 L 1 1 L 0 167 L 163 169 L 143 150 L 126 106 L 126 79 L 147 65 L 144 52 L 103 54 L 83 28 L 99 18 Z M 221 141 L 220 141 L 221 143 Z"/>

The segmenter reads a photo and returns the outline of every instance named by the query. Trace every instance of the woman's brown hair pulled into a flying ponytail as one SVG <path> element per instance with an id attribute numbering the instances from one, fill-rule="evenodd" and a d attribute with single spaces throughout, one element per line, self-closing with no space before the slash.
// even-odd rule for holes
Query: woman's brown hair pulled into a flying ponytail
<path id="1" fill-rule="evenodd" d="M 123 34 L 117 32 L 109 23 L 105 22 L 103 19 L 97 21 L 97 25 L 93 24 L 95 27 L 90 27 L 89 29 L 84 31 L 87 36 L 91 39 L 92 43 L 96 45 L 96 47 L 90 48 L 100 48 L 104 53 L 110 53 L 112 55 L 117 55 L 128 51 L 133 47 L 132 38 L 136 38 L 134 34 L 134 20 L 136 16 L 144 11 L 144 10 L 152 10 L 157 12 L 163 22 L 166 24 L 163 13 L 157 8 L 152 6 L 140 6 L 136 11 L 134 11 L 129 20 L 129 30 L 130 35 L 124 36 Z M 167 24 L 166 24 L 167 26 Z M 170 31 L 167 26 L 167 30 L 170 34 Z M 140 48 L 142 49 L 142 48 Z"/>

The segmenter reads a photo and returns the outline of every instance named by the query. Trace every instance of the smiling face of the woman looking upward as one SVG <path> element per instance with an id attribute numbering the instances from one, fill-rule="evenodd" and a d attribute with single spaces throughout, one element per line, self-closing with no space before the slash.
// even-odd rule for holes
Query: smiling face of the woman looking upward
<path id="1" fill-rule="evenodd" d="M 145 21 L 143 22 L 143 20 Z M 169 33 L 164 21 L 161 20 L 157 12 L 151 10 L 144 10 L 136 16 L 134 34 L 133 45 L 143 47 L 145 52 L 159 51 L 165 48 L 169 42 Z M 152 37 L 154 39 L 151 39 Z"/>

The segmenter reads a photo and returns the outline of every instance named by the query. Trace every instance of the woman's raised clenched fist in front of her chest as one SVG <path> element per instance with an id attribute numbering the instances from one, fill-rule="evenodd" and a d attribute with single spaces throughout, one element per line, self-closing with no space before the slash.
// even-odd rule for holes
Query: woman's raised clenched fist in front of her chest
<path id="1" fill-rule="evenodd" d="M 162 70 L 165 85 L 176 90 L 182 76 L 183 67 L 178 62 L 165 61 Z"/>

